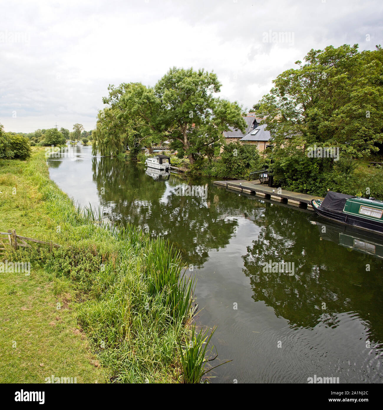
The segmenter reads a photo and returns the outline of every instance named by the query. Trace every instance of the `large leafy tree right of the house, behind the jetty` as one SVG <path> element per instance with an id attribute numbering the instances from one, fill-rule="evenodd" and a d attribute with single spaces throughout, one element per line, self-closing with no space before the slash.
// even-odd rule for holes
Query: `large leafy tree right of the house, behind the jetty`
<path id="1" fill-rule="evenodd" d="M 274 180 L 324 194 L 341 169 L 352 172 L 347 158 L 367 157 L 383 141 L 383 50 L 329 46 L 296 64 L 274 80 L 259 112 L 275 143 Z M 314 145 L 338 147 L 341 161 L 308 158 Z"/>

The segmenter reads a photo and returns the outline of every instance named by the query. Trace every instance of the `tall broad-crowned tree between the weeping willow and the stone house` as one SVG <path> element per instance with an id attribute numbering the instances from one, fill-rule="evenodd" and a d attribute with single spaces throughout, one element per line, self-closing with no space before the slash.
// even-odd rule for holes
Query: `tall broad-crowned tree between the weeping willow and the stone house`
<path id="1" fill-rule="evenodd" d="M 206 155 L 212 144 L 223 143 L 229 127 L 245 132 L 238 103 L 213 96 L 220 87 L 215 73 L 176 67 L 154 87 L 161 100 L 160 122 L 170 139 L 181 141 L 190 164 Z"/>

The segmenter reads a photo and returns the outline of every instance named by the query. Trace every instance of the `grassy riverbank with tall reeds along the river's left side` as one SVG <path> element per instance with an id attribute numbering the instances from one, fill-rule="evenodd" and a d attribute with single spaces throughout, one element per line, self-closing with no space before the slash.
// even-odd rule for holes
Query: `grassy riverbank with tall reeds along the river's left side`
<path id="1" fill-rule="evenodd" d="M 0 191 L 2 232 L 62 245 L 3 255 L 32 267 L 1 274 L 0 381 L 186 380 L 179 343 L 187 355 L 193 281 L 171 246 L 76 208 L 49 179 L 41 148 L 25 162 L 0 161 Z"/>

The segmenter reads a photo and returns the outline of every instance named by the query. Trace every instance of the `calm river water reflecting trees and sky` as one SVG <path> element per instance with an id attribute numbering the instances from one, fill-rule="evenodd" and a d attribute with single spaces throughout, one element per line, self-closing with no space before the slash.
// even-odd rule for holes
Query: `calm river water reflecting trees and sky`
<path id="1" fill-rule="evenodd" d="M 212 383 L 383 381 L 382 240 L 206 178 L 156 180 L 141 164 L 92 157 L 89 146 L 48 165 L 75 201 L 181 251 L 197 277 L 196 321 L 218 326 L 212 363 L 232 360 L 210 373 Z M 206 184 L 206 198 L 177 195 L 182 185 Z M 294 271 L 264 269 L 269 261 Z"/>

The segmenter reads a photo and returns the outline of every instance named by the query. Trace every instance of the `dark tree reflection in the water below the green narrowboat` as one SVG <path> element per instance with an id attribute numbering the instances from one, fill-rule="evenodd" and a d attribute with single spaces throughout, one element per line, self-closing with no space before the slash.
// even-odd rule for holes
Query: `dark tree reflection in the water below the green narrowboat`
<path id="1" fill-rule="evenodd" d="M 295 215 L 300 216 L 266 204 L 265 218 L 258 222 L 259 235 L 242 256 L 254 300 L 265 301 L 290 325 L 307 328 L 319 321 L 336 327 L 339 313 L 357 311 L 362 319 L 375 323 L 378 340 L 383 332 L 381 312 L 372 310 L 382 301 L 381 292 L 376 292 L 376 285 L 380 289 L 383 285 L 381 261 L 359 254 L 351 258 L 350 249 L 329 246 L 317 230 L 307 229 L 307 219 Z M 335 240 L 331 232 L 328 228 L 328 238 Z M 261 263 L 269 260 L 294 262 L 295 275 L 263 272 Z"/>

